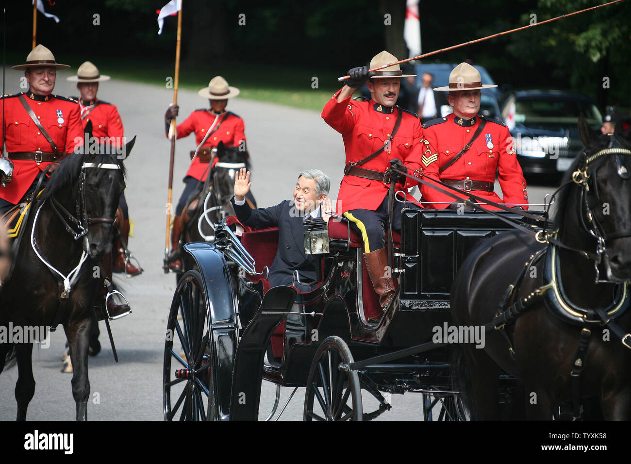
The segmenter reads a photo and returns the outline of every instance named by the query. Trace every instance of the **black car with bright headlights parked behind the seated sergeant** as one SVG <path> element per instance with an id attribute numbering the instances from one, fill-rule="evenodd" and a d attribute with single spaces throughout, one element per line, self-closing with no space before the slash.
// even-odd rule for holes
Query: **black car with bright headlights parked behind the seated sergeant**
<path id="1" fill-rule="evenodd" d="M 514 140 L 524 174 L 561 174 L 582 153 L 579 115 L 593 129 L 603 117 L 594 101 L 561 90 L 522 90 L 506 98 L 502 119 Z"/>

